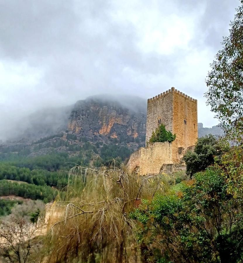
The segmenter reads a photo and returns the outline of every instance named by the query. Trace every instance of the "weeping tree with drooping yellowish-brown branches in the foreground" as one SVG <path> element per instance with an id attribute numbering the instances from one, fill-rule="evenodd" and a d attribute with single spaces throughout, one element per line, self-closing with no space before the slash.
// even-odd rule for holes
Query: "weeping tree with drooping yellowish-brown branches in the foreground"
<path id="1" fill-rule="evenodd" d="M 129 214 L 141 199 L 165 193 L 169 180 L 165 174 L 129 174 L 116 161 L 99 169 L 73 167 L 65 198 L 56 200 L 63 204 L 63 218 L 49 231 L 47 261 L 137 262 Z"/>

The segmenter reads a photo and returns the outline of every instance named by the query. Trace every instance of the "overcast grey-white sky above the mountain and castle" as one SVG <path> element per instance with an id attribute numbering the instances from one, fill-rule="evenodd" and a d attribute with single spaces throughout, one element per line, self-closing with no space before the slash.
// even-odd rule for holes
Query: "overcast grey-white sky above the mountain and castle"
<path id="1" fill-rule="evenodd" d="M 174 86 L 205 104 L 209 64 L 238 0 L 0 0 L 0 133 L 92 94 L 150 98 Z"/>

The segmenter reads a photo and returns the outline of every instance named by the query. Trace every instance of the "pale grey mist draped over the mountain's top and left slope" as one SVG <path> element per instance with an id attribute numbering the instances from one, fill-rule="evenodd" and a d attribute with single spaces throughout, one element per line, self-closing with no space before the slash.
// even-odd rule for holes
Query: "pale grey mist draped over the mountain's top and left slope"
<path id="1" fill-rule="evenodd" d="M 34 113 L 25 113 L 19 117 L 9 119 L 9 113 L 2 113 L 0 140 L 32 141 L 50 136 L 68 128 L 68 117 L 77 105 L 99 102 L 99 106 L 109 105 L 120 109 L 146 114 L 147 100 L 136 96 L 119 94 L 102 94 L 87 97 L 75 104 L 63 107 L 46 107 Z M 16 113 L 18 114 L 18 113 Z"/>

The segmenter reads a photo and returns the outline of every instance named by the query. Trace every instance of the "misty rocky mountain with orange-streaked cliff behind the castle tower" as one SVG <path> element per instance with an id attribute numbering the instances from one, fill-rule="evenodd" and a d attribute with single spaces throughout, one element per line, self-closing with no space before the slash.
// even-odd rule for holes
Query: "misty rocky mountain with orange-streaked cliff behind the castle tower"
<path id="1" fill-rule="evenodd" d="M 139 97 L 104 95 L 40 110 L 28 117 L 29 126 L 21 136 L 0 144 L 0 155 L 32 157 L 54 151 L 87 156 L 93 150 L 105 160 L 125 159 L 145 145 L 146 106 L 146 100 Z M 220 127 L 198 124 L 199 137 L 209 133 L 223 134 Z"/>

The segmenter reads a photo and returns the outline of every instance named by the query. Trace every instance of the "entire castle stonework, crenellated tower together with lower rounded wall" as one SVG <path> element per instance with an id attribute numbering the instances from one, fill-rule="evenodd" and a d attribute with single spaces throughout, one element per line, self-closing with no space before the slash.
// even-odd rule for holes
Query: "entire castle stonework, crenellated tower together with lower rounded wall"
<path id="1" fill-rule="evenodd" d="M 176 134 L 175 141 L 148 143 L 160 124 Z M 130 172 L 139 169 L 141 175 L 156 174 L 165 167 L 175 169 L 185 151 L 196 144 L 197 136 L 197 100 L 172 87 L 148 99 L 146 147 L 130 156 L 127 168 Z"/>

